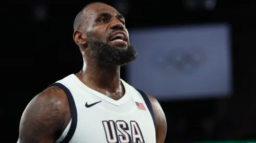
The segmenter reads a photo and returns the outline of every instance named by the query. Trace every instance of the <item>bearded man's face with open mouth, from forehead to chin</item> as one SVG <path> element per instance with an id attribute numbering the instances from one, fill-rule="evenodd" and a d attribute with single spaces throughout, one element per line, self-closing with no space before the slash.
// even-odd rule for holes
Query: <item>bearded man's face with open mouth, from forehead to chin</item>
<path id="1" fill-rule="evenodd" d="M 125 20 L 117 10 L 106 4 L 86 8 L 85 30 L 90 58 L 97 63 L 122 66 L 137 57 L 129 42 Z"/>

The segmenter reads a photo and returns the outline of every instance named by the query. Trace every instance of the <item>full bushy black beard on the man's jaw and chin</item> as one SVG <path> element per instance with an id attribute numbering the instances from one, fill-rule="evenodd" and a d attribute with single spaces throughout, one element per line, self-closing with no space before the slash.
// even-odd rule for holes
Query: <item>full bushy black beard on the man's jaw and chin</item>
<path id="1" fill-rule="evenodd" d="M 127 49 L 118 49 L 93 37 L 88 38 L 88 50 L 99 68 L 125 66 L 137 58 L 137 51 L 131 44 Z"/>

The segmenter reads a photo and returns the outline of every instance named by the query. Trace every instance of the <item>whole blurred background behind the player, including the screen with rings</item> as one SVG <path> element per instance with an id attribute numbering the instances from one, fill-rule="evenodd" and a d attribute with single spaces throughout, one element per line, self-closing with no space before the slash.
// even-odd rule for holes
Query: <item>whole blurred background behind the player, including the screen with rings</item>
<path id="1" fill-rule="evenodd" d="M 94 1 L 7 2 L 1 8 L 10 40 L 1 53 L 1 142 L 17 142 L 33 96 L 82 69 L 73 21 Z M 256 139 L 256 1 L 98 2 L 125 16 L 138 59 L 121 77 L 159 100 L 166 142 Z"/>

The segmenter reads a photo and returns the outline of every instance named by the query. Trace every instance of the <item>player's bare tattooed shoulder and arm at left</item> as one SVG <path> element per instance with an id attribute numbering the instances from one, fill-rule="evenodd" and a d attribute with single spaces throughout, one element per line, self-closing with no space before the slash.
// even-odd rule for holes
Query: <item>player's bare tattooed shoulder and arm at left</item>
<path id="1" fill-rule="evenodd" d="M 49 87 L 34 97 L 22 114 L 18 143 L 53 143 L 56 132 L 70 119 L 65 93 L 57 86 Z"/>

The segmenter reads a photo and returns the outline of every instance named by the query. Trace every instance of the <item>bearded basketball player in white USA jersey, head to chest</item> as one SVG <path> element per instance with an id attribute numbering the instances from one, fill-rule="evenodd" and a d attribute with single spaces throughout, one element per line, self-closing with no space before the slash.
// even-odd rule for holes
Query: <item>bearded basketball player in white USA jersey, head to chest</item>
<path id="1" fill-rule="evenodd" d="M 167 123 L 158 101 L 120 79 L 120 66 L 136 59 L 123 16 L 109 5 L 89 4 L 75 18 L 73 37 L 83 70 L 30 101 L 18 142 L 164 142 Z"/>

